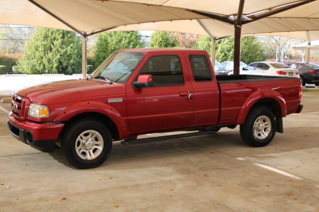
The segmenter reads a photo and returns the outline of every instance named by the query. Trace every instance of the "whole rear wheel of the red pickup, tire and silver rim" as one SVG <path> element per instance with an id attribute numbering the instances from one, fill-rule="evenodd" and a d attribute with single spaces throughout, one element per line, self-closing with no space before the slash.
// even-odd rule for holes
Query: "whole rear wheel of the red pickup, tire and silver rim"
<path id="1" fill-rule="evenodd" d="M 240 125 L 240 135 L 244 142 L 253 147 L 268 145 L 276 134 L 274 113 L 260 106 L 249 112 L 244 124 Z"/>

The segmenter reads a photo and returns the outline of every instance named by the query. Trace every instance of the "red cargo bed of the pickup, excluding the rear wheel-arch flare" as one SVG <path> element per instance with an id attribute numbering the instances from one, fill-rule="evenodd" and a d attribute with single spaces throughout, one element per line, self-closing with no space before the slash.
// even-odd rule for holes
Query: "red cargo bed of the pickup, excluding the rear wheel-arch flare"
<path id="1" fill-rule="evenodd" d="M 287 114 L 295 113 L 300 105 L 297 98 L 300 79 L 291 77 L 230 75 L 216 76 L 220 89 L 219 124 L 236 122 L 248 98 L 260 90 L 274 91 L 287 104 Z M 260 95 L 259 95 L 260 96 Z"/>

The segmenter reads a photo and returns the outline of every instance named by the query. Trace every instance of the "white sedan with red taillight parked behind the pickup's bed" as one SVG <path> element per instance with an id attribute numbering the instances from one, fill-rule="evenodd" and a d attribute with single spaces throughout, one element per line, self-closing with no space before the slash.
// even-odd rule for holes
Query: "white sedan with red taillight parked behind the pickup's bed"
<path id="1" fill-rule="evenodd" d="M 286 64 L 278 62 L 256 62 L 251 63 L 239 72 L 247 75 L 263 75 L 277 77 L 296 77 L 300 78 L 298 69 L 292 69 Z M 228 75 L 233 75 L 233 71 Z"/>

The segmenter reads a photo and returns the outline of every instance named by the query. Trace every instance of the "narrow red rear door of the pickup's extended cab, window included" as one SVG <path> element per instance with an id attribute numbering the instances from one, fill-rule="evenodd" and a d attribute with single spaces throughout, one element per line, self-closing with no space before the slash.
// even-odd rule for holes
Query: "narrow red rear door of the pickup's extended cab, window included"
<path id="1" fill-rule="evenodd" d="M 185 53 L 191 74 L 194 101 L 193 126 L 214 125 L 218 121 L 219 88 L 213 69 L 203 52 Z"/>

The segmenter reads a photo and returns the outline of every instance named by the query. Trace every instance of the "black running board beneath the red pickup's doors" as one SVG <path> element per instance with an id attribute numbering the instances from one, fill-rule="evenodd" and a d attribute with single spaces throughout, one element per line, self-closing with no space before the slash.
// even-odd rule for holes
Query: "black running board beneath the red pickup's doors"
<path id="1" fill-rule="evenodd" d="M 209 134 L 215 134 L 215 133 L 216 131 L 203 131 L 203 132 L 183 133 L 183 134 L 177 134 L 177 135 L 165 135 L 165 136 L 151 137 L 151 138 L 140 138 L 136 140 L 124 140 L 124 141 L 121 141 L 121 144 L 134 145 L 134 144 L 143 144 L 143 143 L 155 143 L 162 140 L 171 140 L 171 139 L 192 137 L 192 136 L 199 136 L 199 135 L 209 135 Z"/>

